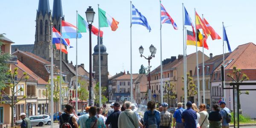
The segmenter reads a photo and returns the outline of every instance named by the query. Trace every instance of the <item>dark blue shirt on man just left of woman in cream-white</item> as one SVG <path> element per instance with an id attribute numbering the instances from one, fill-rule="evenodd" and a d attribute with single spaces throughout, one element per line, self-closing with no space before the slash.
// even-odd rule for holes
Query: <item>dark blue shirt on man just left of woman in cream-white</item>
<path id="1" fill-rule="evenodd" d="M 183 111 L 181 118 L 185 121 L 184 128 L 196 128 L 197 115 L 194 110 L 191 108 L 186 109 Z"/>

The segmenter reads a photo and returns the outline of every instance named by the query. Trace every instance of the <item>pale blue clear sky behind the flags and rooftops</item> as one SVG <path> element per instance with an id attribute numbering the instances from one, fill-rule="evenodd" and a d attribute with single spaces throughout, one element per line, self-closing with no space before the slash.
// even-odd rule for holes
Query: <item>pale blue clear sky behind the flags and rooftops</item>
<path id="1" fill-rule="evenodd" d="M 0 33 L 18 44 L 34 44 L 35 19 L 39 0 L 0 0 Z M 159 0 L 133 0 L 134 6 L 147 18 L 151 32 L 145 26 L 132 25 L 132 73 L 138 73 L 140 65 L 145 67 L 148 61 L 140 57 L 139 47 L 144 47 L 143 55 L 150 55 L 148 47 L 153 44 L 157 53 L 151 59 L 151 70 L 160 65 L 160 2 Z M 255 42 L 256 1 L 255 0 L 162 0 L 169 15 L 174 19 L 178 30 L 172 24 L 162 24 L 162 60 L 183 54 L 183 12 L 182 3 L 186 7 L 193 22 L 195 10 L 198 15 L 204 14 L 209 24 L 222 38 L 222 22 L 226 26 L 227 37 L 231 50 L 249 42 Z M 98 4 L 101 9 L 119 21 L 118 29 L 113 32 L 110 27 L 101 28 L 104 32 L 103 44 L 108 52 L 108 71 L 115 75 L 120 71 L 131 72 L 130 61 L 130 0 L 62 0 L 65 21 L 76 25 L 76 10 L 86 19 L 85 11 L 92 6 L 96 12 L 93 25 L 98 27 Z M 52 10 L 53 0 L 49 0 Z M 195 23 L 194 23 L 195 24 Z M 191 26 L 186 26 L 192 30 Z M 74 48 L 68 48 L 68 60 L 76 64 L 76 39 L 70 39 Z M 92 35 L 92 49 L 97 44 L 97 37 Z M 222 54 L 223 41 L 212 41 L 208 38 L 209 50 L 204 53 L 209 56 Z M 225 44 L 227 46 L 227 44 Z M 201 47 L 198 50 L 202 51 Z M 187 54 L 196 52 L 195 46 L 187 47 Z M 225 52 L 228 52 L 226 48 Z M 200 57 L 200 56 L 199 56 Z M 78 39 L 78 64 L 84 63 L 89 71 L 89 33 L 83 33 Z"/>

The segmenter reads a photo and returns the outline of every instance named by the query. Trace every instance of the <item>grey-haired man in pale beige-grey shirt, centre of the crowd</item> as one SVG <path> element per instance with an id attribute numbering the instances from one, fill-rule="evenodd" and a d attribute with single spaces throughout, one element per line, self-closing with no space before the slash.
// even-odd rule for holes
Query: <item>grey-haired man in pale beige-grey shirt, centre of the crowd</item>
<path id="1" fill-rule="evenodd" d="M 139 128 L 139 119 L 136 113 L 131 110 L 131 102 L 125 102 L 125 111 L 122 111 L 118 118 L 118 128 Z"/>

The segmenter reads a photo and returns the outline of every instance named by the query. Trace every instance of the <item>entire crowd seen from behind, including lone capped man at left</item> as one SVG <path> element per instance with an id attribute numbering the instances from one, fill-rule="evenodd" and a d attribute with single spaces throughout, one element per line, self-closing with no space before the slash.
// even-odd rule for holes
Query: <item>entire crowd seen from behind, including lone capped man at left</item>
<path id="1" fill-rule="evenodd" d="M 212 112 L 207 113 L 206 106 L 199 108 L 195 103 L 187 102 L 187 109 L 177 103 L 177 110 L 167 111 L 169 105 L 164 102 L 156 110 L 156 102 L 147 103 L 144 116 L 134 111 L 134 104 L 126 101 L 122 106 L 119 102 L 111 103 L 108 113 L 96 106 L 87 107 L 85 114 L 77 116 L 72 105 L 67 104 L 60 115 L 59 128 L 229 128 L 230 110 L 224 101 L 212 105 Z M 21 128 L 31 128 L 30 120 L 25 113 L 20 114 L 23 122 Z M 173 117 L 173 118 L 172 118 Z"/>

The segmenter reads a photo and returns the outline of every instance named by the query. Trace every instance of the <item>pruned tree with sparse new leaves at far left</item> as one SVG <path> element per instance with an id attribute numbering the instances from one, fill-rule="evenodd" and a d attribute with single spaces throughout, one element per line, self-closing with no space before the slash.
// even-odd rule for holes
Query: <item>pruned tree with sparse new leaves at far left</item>
<path id="1" fill-rule="evenodd" d="M 4 100 L 4 102 L 2 103 L 6 103 L 10 106 L 10 108 L 12 109 L 12 113 L 11 113 L 11 127 L 14 127 L 14 107 L 15 105 L 22 99 L 26 98 L 26 96 L 23 96 L 22 98 L 18 98 L 17 99 L 15 98 L 16 94 L 17 93 L 20 93 L 21 91 L 24 90 L 23 87 L 20 87 L 20 89 L 16 90 L 16 87 L 17 87 L 17 84 L 20 83 L 20 81 L 26 81 L 29 79 L 29 76 L 27 76 L 27 73 L 24 72 L 23 75 L 21 76 L 20 80 L 16 81 L 15 80 L 15 77 L 18 76 L 18 72 L 17 72 L 18 68 L 16 67 L 14 69 L 14 71 L 12 72 L 12 70 L 9 70 L 7 73 L 6 73 L 6 76 L 8 77 L 8 80 L 7 82 L 5 82 L 5 88 L 10 88 L 11 90 L 11 94 L 9 94 L 9 90 L 5 92 L 4 88 L 2 90 L 3 94 L 6 95 L 6 97 L 8 98 L 4 98 L 2 97 L 2 99 Z M 9 99 L 11 101 L 9 101 Z M 15 100 L 16 99 L 16 100 Z"/>

